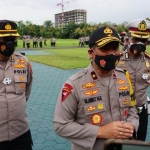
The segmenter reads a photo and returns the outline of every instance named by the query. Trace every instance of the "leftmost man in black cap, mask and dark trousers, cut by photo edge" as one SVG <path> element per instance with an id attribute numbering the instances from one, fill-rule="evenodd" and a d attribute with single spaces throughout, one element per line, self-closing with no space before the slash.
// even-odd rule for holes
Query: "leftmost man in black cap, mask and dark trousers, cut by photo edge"
<path id="1" fill-rule="evenodd" d="M 17 24 L 0 20 L 0 150 L 32 150 L 26 102 L 32 85 L 28 59 L 15 51 Z"/>

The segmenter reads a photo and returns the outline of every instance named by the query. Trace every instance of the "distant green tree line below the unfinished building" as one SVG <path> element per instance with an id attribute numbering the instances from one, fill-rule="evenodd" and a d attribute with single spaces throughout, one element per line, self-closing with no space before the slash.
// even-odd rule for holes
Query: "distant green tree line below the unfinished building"
<path id="1" fill-rule="evenodd" d="M 150 21 L 150 18 L 146 18 Z M 31 21 L 23 22 L 18 21 L 18 32 L 21 36 L 30 35 L 30 36 L 42 36 L 46 38 L 56 37 L 56 38 L 79 38 L 81 36 L 90 35 L 95 29 L 103 25 L 109 25 L 114 27 L 118 33 L 128 32 L 125 28 L 128 22 L 125 21 L 121 24 L 103 22 L 103 23 L 81 23 L 75 24 L 70 22 L 67 25 L 64 25 L 61 28 L 55 28 L 51 20 L 44 21 L 43 25 L 33 24 Z"/>

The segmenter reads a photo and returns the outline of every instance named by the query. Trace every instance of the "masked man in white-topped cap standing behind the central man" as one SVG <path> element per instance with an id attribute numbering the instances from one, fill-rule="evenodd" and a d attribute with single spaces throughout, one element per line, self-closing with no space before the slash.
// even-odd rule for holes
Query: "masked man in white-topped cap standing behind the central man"
<path id="1" fill-rule="evenodd" d="M 118 67 L 128 70 L 130 74 L 140 118 L 137 140 L 145 141 L 148 125 L 147 88 L 150 84 L 150 55 L 146 53 L 146 45 L 150 38 L 150 21 L 134 20 L 127 25 L 127 29 L 131 43 Z"/>

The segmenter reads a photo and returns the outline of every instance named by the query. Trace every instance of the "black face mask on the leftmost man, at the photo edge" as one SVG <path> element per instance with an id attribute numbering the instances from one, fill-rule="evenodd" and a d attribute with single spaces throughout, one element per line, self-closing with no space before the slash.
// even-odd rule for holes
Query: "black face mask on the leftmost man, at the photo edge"
<path id="1" fill-rule="evenodd" d="M 6 57 L 9 57 L 15 51 L 15 47 L 15 43 L 12 41 L 0 42 L 0 53 Z"/>

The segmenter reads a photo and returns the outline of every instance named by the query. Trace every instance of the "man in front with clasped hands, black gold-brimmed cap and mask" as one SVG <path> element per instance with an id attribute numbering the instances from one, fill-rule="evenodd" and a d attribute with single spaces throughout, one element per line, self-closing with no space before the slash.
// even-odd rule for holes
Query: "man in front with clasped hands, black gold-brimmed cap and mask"
<path id="1" fill-rule="evenodd" d="M 118 33 L 102 26 L 90 36 L 91 63 L 63 85 L 54 113 L 55 132 L 72 150 L 103 150 L 109 138 L 129 139 L 139 118 L 128 76 L 115 69 L 121 53 Z M 132 96 L 132 101 L 131 101 Z"/>

